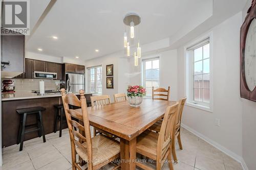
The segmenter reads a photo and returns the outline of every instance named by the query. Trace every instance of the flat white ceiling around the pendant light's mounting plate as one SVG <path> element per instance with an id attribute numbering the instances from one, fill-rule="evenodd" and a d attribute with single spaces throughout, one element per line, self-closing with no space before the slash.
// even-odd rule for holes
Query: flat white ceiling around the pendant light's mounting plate
<path id="1" fill-rule="evenodd" d="M 195 27 L 195 23 L 199 25 L 211 16 L 211 5 L 212 0 L 58 0 L 26 48 L 35 53 L 42 48 L 42 54 L 88 60 L 123 50 L 123 17 L 127 13 L 140 15 L 140 43 L 146 44 L 172 37 L 179 30 Z M 31 6 L 36 9 L 40 4 Z M 35 20 L 35 15 L 31 17 Z"/>

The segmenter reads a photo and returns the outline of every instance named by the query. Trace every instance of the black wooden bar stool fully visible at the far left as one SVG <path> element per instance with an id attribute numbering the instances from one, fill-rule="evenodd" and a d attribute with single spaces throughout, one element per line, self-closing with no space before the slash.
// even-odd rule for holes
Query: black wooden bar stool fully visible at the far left
<path id="1" fill-rule="evenodd" d="M 19 151 L 23 150 L 23 142 L 24 142 L 25 133 L 38 131 L 38 137 L 42 136 L 42 140 L 44 142 L 46 142 L 44 125 L 42 124 L 42 114 L 41 114 L 41 112 L 44 110 L 46 110 L 46 108 L 44 108 L 44 107 L 31 107 L 31 108 L 24 108 L 24 109 L 16 109 L 16 112 L 21 115 L 20 123 L 19 123 L 19 130 L 18 130 L 18 138 L 17 138 L 17 144 L 20 143 Z M 37 125 L 37 128 L 25 131 L 25 128 L 28 127 L 28 126 L 26 126 L 26 120 L 27 120 L 27 115 L 29 115 L 29 114 L 36 114 L 37 124 L 30 125 L 30 126 Z"/>

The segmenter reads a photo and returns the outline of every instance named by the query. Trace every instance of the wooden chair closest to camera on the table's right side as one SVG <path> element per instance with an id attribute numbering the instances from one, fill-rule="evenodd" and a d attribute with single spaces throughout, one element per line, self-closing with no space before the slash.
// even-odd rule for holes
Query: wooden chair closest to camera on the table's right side
<path id="1" fill-rule="evenodd" d="M 172 164 L 172 136 L 178 105 L 177 102 L 175 105 L 166 108 L 159 133 L 146 130 L 137 137 L 136 152 L 155 160 L 157 170 L 162 168 L 166 158 L 168 159 L 169 168 L 174 169 Z M 153 168 L 139 161 L 136 161 L 136 165 L 142 169 L 153 170 Z"/>

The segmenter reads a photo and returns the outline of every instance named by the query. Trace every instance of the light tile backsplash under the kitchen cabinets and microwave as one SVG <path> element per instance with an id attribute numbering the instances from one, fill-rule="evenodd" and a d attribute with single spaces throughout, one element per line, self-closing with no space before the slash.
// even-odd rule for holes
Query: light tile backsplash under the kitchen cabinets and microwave
<path id="1" fill-rule="evenodd" d="M 60 81 L 50 79 L 2 79 L 13 80 L 16 92 L 39 90 L 39 81 L 45 82 L 45 90 L 59 90 Z"/>

